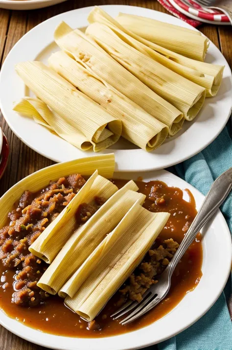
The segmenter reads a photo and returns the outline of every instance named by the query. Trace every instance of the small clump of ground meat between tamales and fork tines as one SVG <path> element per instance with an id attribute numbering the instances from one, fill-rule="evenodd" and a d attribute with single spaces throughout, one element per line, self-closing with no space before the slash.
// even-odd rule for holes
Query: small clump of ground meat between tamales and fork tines
<path id="1" fill-rule="evenodd" d="M 124 288 L 119 292 L 131 300 L 141 301 L 145 291 L 158 282 L 154 277 L 162 274 L 178 247 L 179 244 L 170 238 L 159 247 L 149 250 L 143 262 L 130 275 Z"/>

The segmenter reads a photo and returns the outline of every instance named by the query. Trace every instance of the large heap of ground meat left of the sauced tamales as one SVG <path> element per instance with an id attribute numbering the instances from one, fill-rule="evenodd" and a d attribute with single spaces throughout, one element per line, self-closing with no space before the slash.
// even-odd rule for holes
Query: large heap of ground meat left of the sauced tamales
<path id="1" fill-rule="evenodd" d="M 61 177 L 40 193 L 25 191 L 16 209 L 8 217 L 10 224 L 0 229 L 0 260 L 7 269 L 16 269 L 12 301 L 21 306 L 36 306 L 49 296 L 37 286 L 46 270 L 44 261 L 28 250 L 29 246 L 65 208 L 85 184 L 80 174 Z M 103 203 L 97 198 L 93 205 L 84 204 L 83 217 L 89 217 Z M 94 206 L 95 205 L 95 206 Z M 91 207 L 91 210 L 90 210 Z M 94 209 L 94 210 L 93 210 Z M 85 220 L 80 220 L 79 224 Z"/>

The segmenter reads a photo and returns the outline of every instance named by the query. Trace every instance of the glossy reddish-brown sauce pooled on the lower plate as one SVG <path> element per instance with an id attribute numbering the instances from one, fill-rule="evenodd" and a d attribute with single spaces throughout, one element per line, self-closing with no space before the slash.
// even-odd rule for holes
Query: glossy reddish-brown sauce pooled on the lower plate
<path id="1" fill-rule="evenodd" d="M 112 180 L 118 188 L 121 188 L 127 180 Z M 171 214 L 167 224 L 156 240 L 156 246 L 165 239 L 173 238 L 181 243 L 184 234 L 196 216 L 195 200 L 187 191 L 189 202 L 183 199 L 183 191 L 176 187 L 168 187 L 161 181 L 142 182 L 136 181 L 139 192 L 147 196 L 143 206 L 153 212 L 166 211 Z M 148 199 L 152 189 L 154 199 Z M 163 198 L 162 205 L 156 200 Z M 118 293 L 109 300 L 107 305 L 96 317 L 96 322 L 101 330 L 89 330 L 87 322 L 64 305 L 63 299 L 51 296 L 48 300 L 34 308 L 20 307 L 11 302 L 15 271 L 6 270 L 0 263 L 0 309 L 9 317 L 22 322 L 40 331 L 70 337 L 98 338 L 126 333 L 138 328 L 150 325 L 170 312 L 188 293 L 193 290 L 202 276 L 201 267 L 203 250 L 201 235 L 191 244 L 181 259 L 172 276 L 172 283 L 167 297 L 153 310 L 139 320 L 129 325 L 120 325 L 119 321 L 113 321 L 110 315 L 118 309 Z"/>

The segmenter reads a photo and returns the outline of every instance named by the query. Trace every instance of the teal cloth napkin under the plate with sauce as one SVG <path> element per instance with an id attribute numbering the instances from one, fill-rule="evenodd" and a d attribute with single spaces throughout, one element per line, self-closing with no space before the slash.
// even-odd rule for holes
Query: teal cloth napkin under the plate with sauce
<path id="1" fill-rule="evenodd" d="M 216 177 L 232 167 L 230 129 L 228 124 L 205 150 L 168 170 L 206 195 Z M 232 192 L 220 209 L 232 232 Z M 231 297 L 230 277 L 224 292 L 199 321 L 177 336 L 146 350 L 232 350 L 232 323 L 227 306 Z"/>

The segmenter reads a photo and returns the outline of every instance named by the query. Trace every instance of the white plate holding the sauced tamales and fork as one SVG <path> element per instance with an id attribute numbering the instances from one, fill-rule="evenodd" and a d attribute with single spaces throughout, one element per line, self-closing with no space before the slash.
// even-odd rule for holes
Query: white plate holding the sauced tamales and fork
<path id="1" fill-rule="evenodd" d="M 188 188 L 199 209 L 204 196 L 179 177 L 165 171 L 139 174 L 144 181 L 162 180 L 169 186 Z M 120 173 L 116 178 L 137 179 L 138 174 Z M 185 198 L 185 197 L 184 197 Z M 186 200 L 188 196 L 186 195 Z M 203 276 L 197 287 L 166 316 L 139 330 L 107 338 L 70 338 L 46 334 L 8 318 L 0 311 L 0 324 L 12 333 L 38 345 L 59 350 L 132 350 L 147 347 L 183 331 L 201 316 L 220 296 L 231 270 L 232 246 L 229 228 L 218 210 L 203 229 Z M 215 282 L 215 276 L 217 280 Z"/>

